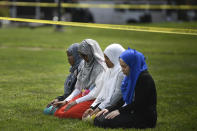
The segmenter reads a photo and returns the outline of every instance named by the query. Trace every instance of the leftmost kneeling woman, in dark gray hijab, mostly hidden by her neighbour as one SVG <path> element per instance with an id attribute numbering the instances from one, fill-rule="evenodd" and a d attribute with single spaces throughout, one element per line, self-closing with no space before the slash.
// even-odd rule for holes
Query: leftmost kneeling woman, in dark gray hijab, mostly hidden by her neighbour
<path id="1" fill-rule="evenodd" d="M 70 75 L 68 75 L 67 79 L 64 82 L 64 94 L 52 100 L 44 109 L 44 114 L 50 114 L 50 115 L 54 114 L 54 112 L 57 110 L 57 107 L 56 105 L 54 105 L 54 103 L 58 101 L 63 101 L 74 90 L 75 83 L 77 81 L 77 75 L 81 70 L 81 65 L 83 64 L 83 61 L 78 54 L 78 47 L 79 47 L 79 44 L 75 43 L 75 44 L 72 44 L 67 49 L 68 62 L 71 65 L 71 67 L 70 67 Z"/>

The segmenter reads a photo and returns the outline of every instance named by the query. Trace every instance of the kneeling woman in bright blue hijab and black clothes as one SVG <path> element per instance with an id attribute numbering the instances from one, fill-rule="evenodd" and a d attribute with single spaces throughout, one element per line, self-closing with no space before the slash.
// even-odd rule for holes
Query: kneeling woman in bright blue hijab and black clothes
<path id="1" fill-rule="evenodd" d="M 94 124 L 104 128 L 154 128 L 157 122 L 157 95 L 142 53 L 128 49 L 120 55 L 122 99 L 100 111 Z"/>

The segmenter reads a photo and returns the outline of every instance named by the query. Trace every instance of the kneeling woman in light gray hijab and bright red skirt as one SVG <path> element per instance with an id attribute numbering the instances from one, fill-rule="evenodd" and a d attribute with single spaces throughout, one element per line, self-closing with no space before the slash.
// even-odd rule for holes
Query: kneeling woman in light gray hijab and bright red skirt
<path id="1" fill-rule="evenodd" d="M 93 90 L 95 82 L 106 69 L 103 52 L 95 40 L 83 40 L 79 45 L 78 53 L 84 59 L 84 65 L 77 77 L 75 90 L 64 101 L 57 103 L 62 107 L 54 115 L 60 118 L 82 118 L 84 111 L 89 108 L 93 100 L 80 103 L 76 100 Z"/>

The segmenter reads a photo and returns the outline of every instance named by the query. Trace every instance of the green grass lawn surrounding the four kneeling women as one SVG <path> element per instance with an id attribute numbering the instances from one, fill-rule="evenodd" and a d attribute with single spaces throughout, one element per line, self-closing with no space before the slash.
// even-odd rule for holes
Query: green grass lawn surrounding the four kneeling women
<path id="1" fill-rule="evenodd" d="M 104 130 L 43 114 L 63 93 L 69 70 L 65 49 L 85 38 L 97 40 L 103 50 L 115 42 L 146 56 L 158 98 L 157 127 L 146 130 L 197 130 L 197 36 L 77 27 L 0 29 L 0 130 Z"/>

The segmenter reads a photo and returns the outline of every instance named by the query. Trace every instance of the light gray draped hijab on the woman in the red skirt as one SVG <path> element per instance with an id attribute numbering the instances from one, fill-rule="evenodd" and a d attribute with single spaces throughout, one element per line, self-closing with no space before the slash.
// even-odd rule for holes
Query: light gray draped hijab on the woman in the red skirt
<path id="1" fill-rule="evenodd" d="M 83 83 L 83 87 L 88 89 L 95 84 L 97 76 L 106 68 L 104 55 L 99 44 L 92 39 L 83 40 L 78 51 L 88 56 L 89 61 L 84 61 L 77 78 L 78 81 Z"/>

